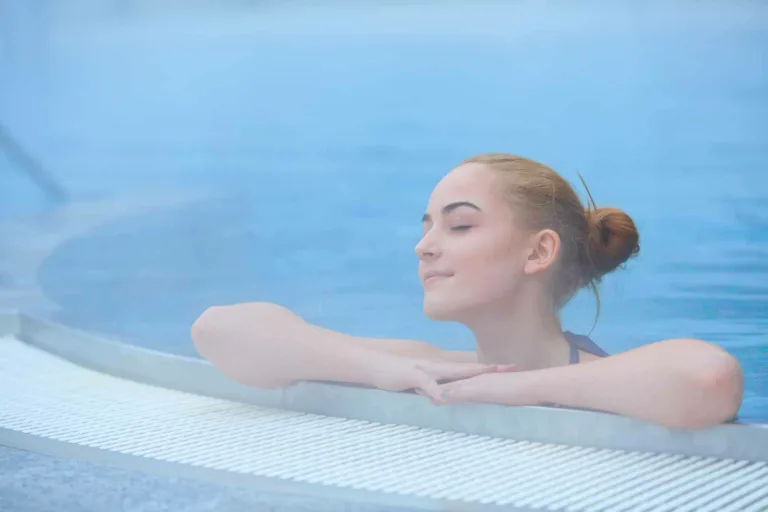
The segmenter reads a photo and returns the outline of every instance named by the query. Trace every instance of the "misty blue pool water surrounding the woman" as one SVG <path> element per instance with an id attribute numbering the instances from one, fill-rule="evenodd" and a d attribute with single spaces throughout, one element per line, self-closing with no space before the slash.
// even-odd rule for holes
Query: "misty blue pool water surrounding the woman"
<path id="1" fill-rule="evenodd" d="M 422 314 L 419 219 L 456 163 L 513 152 L 640 228 L 596 341 L 716 342 L 768 422 L 765 3 L 151 5 L 0 0 L 0 121 L 77 197 L 201 196 L 60 246 L 57 320 L 190 355 L 205 307 L 269 300 L 469 348 Z M 6 176 L 6 215 L 45 208 Z M 565 326 L 594 314 L 581 294 Z"/>

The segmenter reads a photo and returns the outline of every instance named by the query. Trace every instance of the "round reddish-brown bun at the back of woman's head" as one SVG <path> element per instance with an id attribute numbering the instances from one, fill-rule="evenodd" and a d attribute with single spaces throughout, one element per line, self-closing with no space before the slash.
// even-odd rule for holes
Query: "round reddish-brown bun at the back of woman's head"
<path id="1" fill-rule="evenodd" d="M 632 218 L 618 208 L 589 209 L 586 214 L 589 255 L 594 278 L 600 279 L 640 252 L 640 234 Z"/>

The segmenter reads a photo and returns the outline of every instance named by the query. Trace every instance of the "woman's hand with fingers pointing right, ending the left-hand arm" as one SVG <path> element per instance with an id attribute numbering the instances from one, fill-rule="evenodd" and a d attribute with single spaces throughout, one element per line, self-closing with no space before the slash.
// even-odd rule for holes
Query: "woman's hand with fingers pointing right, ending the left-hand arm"
<path id="1" fill-rule="evenodd" d="M 373 385 L 385 391 L 415 390 L 432 401 L 441 400 L 440 384 L 463 382 L 487 373 L 509 372 L 512 365 L 484 365 L 480 363 L 454 363 L 429 359 L 410 359 L 394 356 L 382 361 Z"/>

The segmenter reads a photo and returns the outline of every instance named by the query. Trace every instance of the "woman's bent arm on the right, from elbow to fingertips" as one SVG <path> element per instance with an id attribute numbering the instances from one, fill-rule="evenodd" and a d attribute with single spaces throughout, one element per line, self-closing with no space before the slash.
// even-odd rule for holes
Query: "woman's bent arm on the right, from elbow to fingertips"
<path id="1" fill-rule="evenodd" d="M 588 363 L 482 375 L 442 386 L 443 403 L 555 403 L 700 428 L 733 419 L 741 405 L 738 361 L 716 345 L 675 339 Z"/>

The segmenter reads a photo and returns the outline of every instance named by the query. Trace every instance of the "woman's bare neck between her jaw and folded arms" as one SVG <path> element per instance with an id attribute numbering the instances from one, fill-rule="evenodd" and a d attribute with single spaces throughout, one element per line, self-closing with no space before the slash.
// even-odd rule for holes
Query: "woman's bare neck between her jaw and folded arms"
<path id="1" fill-rule="evenodd" d="M 465 325 L 475 336 L 481 363 L 514 364 L 518 371 L 527 371 L 569 362 L 570 347 L 546 301 L 520 300 L 499 311 L 478 314 Z"/>

